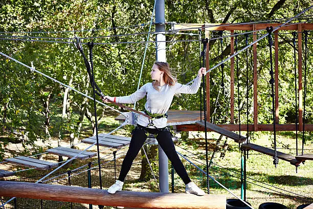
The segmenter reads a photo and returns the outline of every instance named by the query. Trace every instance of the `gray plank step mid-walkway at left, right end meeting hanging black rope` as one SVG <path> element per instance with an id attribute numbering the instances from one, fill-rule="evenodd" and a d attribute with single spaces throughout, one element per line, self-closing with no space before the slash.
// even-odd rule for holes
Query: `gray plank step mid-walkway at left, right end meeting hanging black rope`
<path id="1" fill-rule="evenodd" d="M 71 149 L 71 148 L 64 148 L 64 147 L 57 147 L 47 150 L 49 153 L 64 156 L 64 157 L 75 157 L 78 153 L 81 152 L 81 150 Z M 87 152 L 84 151 L 78 156 L 76 156 L 78 159 L 85 160 L 91 157 L 97 156 L 97 153 L 93 152 Z"/>

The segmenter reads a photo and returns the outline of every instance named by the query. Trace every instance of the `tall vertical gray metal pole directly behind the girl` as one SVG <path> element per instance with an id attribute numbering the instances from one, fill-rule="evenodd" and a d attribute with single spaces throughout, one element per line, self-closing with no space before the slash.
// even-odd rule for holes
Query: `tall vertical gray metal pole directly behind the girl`
<path id="1" fill-rule="evenodd" d="M 155 4 L 155 32 L 165 31 L 165 6 L 164 0 L 156 0 Z M 165 35 L 157 34 L 155 49 L 157 52 L 157 61 L 166 61 L 165 51 Z M 159 145 L 159 176 L 160 176 L 160 190 L 161 192 L 168 193 L 168 159 L 164 151 Z"/>

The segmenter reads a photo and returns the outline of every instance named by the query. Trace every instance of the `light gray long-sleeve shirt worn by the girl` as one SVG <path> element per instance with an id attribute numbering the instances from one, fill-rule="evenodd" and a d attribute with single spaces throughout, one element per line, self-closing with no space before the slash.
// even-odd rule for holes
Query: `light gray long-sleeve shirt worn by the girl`
<path id="1" fill-rule="evenodd" d="M 146 83 L 135 93 L 130 96 L 120 96 L 116 97 L 116 102 L 118 103 L 135 103 L 136 101 L 142 99 L 147 95 L 147 102 L 145 104 L 145 109 L 152 114 L 165 114 L 171 106 L 174 94 L 195 94 L 201 83 L 201 78 L 196 77 L 192 85 L 187 86 L 176 82 L 174 86 L 164 85 L 159 87 L 160 91 L 153 88 L 152 83 Z M 153 124 L 155 127 L 164 128 L 166 127 L 167 118 L 153 119 Z M 139 115 L 138 124 L 147 127 L 149 124 L 149 118 Z M 149 127 L 154 128 L 154 127 Z"/>

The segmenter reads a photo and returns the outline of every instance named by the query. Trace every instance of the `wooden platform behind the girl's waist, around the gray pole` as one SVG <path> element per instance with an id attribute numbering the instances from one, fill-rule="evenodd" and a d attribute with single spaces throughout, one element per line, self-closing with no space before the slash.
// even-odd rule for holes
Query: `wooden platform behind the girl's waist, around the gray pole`
<path id="1" fill-rule="evenodd" d="M 200 120 L 200 111 L 192 110 L 169 110 L 167 112 L 167 126 L 174 126 L 179 124 L 192 124 Z M 204 113 L 202 112 L 204 118 Z M 116 120 L 124 121 L 125 117 L 119 115 Z"/>

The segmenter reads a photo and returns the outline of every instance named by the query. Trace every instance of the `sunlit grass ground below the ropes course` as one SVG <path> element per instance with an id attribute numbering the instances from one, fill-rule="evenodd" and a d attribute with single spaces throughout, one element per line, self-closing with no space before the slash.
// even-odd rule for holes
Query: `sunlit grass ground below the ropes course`
<path id="1" fill-rule="evenodd" d="M 102 118 L 99 123 L 99 133 L 109 132 L 119 126 L 119 122 L 114 120 L 116 114 L 107 114 L 107 117 Z M 115 134 L 122 136 L 129 136 L 130 130 L 132 128 L 126 127 L 118 130 Z M 80 138 L 89 137 L 92 135 L 92 130 L 89 121 L 84 120 L 82 126 L 82 133 Z M 177 134 L 179 136 L 180 134 Z M 245 135 L 245 133 L 242 133 Z M 215 148 L 216 139 L 219 137 L 218 134 L 209 133 L 209 159 Z M 69 145 L 68 134 L 64 135 L 64 145 Z M 224 142 L 222 139 L 222 143 Z M 253 143 L 263 145 L 264 147 L 271 148 L 273 146 L 273 136 L 270 132 L 258 132 L 252 135 Z M 41 144 L 44 149 L 48 146 L 54 147 L 56 139 L 53 138 L 52 141 Z M 305 153 L 312 153 L 313 145 L 312 140 L 307 137 L 307 143 L 305 144 Z M 277 144 L 278 150 L 284 153 L 295 155 L 296 143 L 295 143 L 295 133 L 294 132 L 279 132 L 277 135 Z M 298 144 L 301 148 L 301 140 Z M 85 148 L 84 145 L 79 144 L 79 149 Z M 103 148 L 102 148 L 103 149 Z M 227 186 L 234 194 L 240 197 L 241 191 L 241 181 L 240 181 L 240 164 L 241 164 L 241 153 L 238 151 L 238 144 L 230 141 L 229 150 L 226 152 L 225 157 L 216 158 L 214 165 L 209 170 L 209 174 L 213 176 L 216 180 L 221 182 L 223 185 Z M 127 148 L 124 149 L 126 151 Z M 189 140 L 177 142 L 176 150 L 183 153 L 186 156 L 189 156 L 191 161 L 195 162 L 201 168 L 205 170 L 205 140 L 204 134 L 198 132 L 191 132 Z M 96 148 L 92 148 L 91 151 L 96 151 Z M 113 153 L 113 149 L 108 149 L 101 152 L 101 156 L 106 156 Z M 188 152 L 187 152 L 188 151 Z M 300 150 L 299 150 L 300 152 Z M 193 153 L 193 154 L 192 154 Z M 196 159 L 197 156 L 202 157 L 203 159 Z M 109 159 L 113 158 L 109 156 Z M 122 157 L 123 158 L 123 157 Z M 117 164 L 122 162 L 122 158 L 117 160 Z M 53 155 L 43 156 L 43 159 L 56 161 L 57 157 Z M 64 158 L 65 159 L 65 158 Z M 81 165 L 87 164 L 89 161 L 96 161 L 94 159 L 88 159 L 84 161 L 75 161 L 71 164 L 69 168 L 61 169 L 57 173 L 66 173 L 68 170 L 73 170 L 78 168 Z M 140 162 L 140 158 L 137 159 Z M 197 185 L 206 189 L 206 177 L 203 173 L 199 172 L 194 166 L 188 164 L 183 160 L 186 165 L 186 169 Z M 95 163 L 97 165 L 97 163 Z M 94 166 L 95 166 L 94 165 Z M 112 162 L 106 165 L 113 165 Z M 106 166 L 103 165 L 103 166 Z M 2 166 L 2 167 L 1 167 Z M 5 168 L 3 168 L 5 166 Z M 0 169 L 4 170 L 18 170 L 23 169 L 16 166 L 8 166 L 0 164 Z M 156 165 L 157 166 L 157 165 Z M 140 163 L 133 165 L 132 170 L 130 171 L 126 181 L 125 181 L 125 190 L 131 191 L 144 191 L 144 192 L 158 192 L 158 187 L 154 182 L 154 179 L 151 179 L 148 182 L 138 182 L 140 175 Z M 85 169 L 85 168 L 83 168 Z M 156 169 L 157 170 L 157 169 Z M 21 181 L 30 181 L 34 182 L 38 180 L 40 175 L 47 174 L 48 171 L 37 171 L 30 170 L 25 172 L 17 173 L 15 177 L 9 177 L 5 180 L 23 178 Z M 98 173 L 97 169 L 92 172 L 93 187 L 99 187 L 98 182 Z M 119 170 L 117 171 L 118 174 Z M 169 168 L 170 172 L 170 168 Z M 34 176 L 33 178 L 30 178 Z M 107 168 L 102 169 L 103 176 L 103 187 L 106 189 L 110 184 L 114 182 L 114 167 L 107 166 Z M 61 177 L 60 177 L 61 178 Z M 60 179 L 59 178 L 59 179 Z M 64 176 L 63 176 L 64 178 Z M 295 166 L 291 165 L 288 162 L 279 160 L 278 168 L 275 168 L 273 165 L 273 159 L 270 156 L 262 155 L 256 152 L 249 152 L 249 157 L 247 159 L 247 201 L 249 201 L 253 207 L 258 208 L 258 205 L 263 202 L 279 202 L 286 205 L 288 208 L 296 208 L 302 203 L 306 203 L 304 200 L 307 200 L 305 197 L 309 197 L 309 201 L 313 201 L 313 163 L 312 161 L 307 161 L 305 164 L 301 164 L 297 170 Z M 171 176 L 169 175 L 169 181 Z M 82 173 L 72 178 L 72 185 L 87 186 L 87 177 L 86 173 Z M 51 183 L 51 182 L 47 182 Z M 62 179 L 59 182 L 53 182 L 57 184 L 67 184 L 67 179 Z M 185 185 L 176 174 L 174 175 L 174 190 L 175 192 L 184 192 Z M 275 187 L 273 187 L 275 186 Z M 169 185 L 171 188 L 171 186 Z M 221 194 L 226 195 L 227 198 L 234 198 L 226 190 L 222 189 L 219 185 L 210 180 L 210 193 L 211 194 Z M 284 195 L 287 194 L 287 195 Z M 303 197 L 304 196 L 304 197 Z M 302 200 L 301 200 L 302 199 Z M 48 201 L 45 201 L 46 203 Z M 49 204 L 52 204 L 51 202 Z M 40 204 L 39 204 L 40 205 Z M 85 204 L 76 205 L 77 208 L 88 208 Z M 49 208 L 49 207 L 47 207 Z M 51 207 L 52 208 L 52 207 Z M 54 208 L 69 208 L 60 204 L 58 207 Z M 75 207 L 74 207 L 75 208 Z M 94 208 L 97 208 L 94 206 Z"/>

